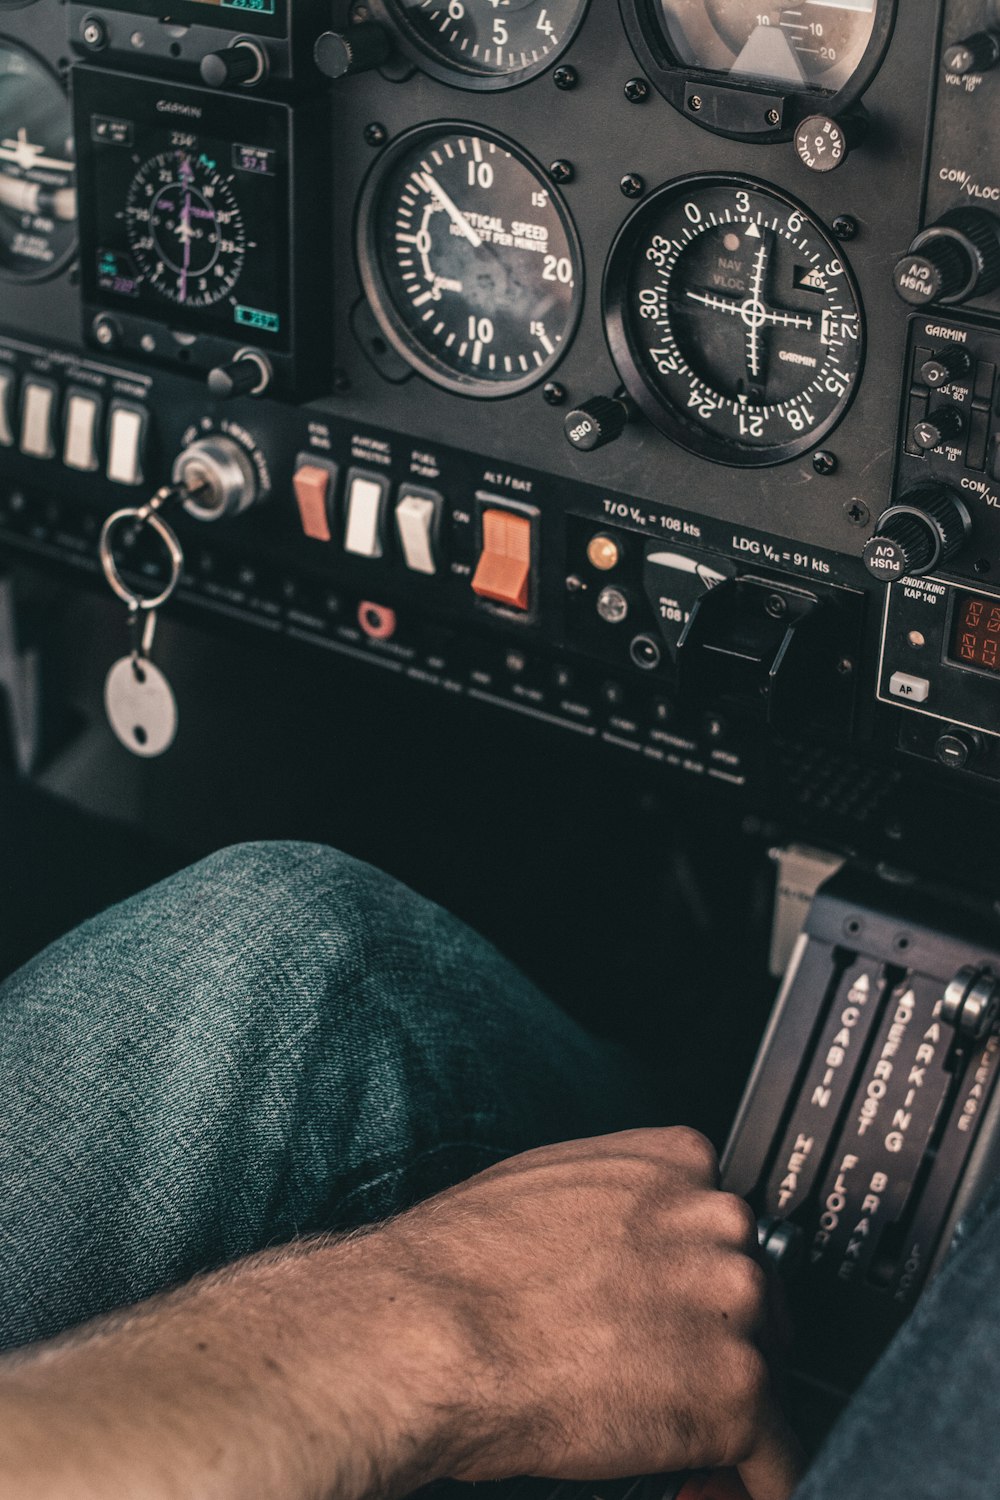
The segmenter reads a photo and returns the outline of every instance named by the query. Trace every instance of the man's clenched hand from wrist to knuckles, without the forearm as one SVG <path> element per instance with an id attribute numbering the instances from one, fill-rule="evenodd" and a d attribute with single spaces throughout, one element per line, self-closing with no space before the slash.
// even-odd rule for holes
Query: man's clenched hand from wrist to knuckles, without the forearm
<path id="1" fill-rule="evenodd" d="M 462 1350 L 456 1478 L 739 1466 L 754 1500 L 787 1500 L 772 1288 L 717 1180 L 694 1131 L 633 1131 L 517 1156 L 379 1232 Z"/>

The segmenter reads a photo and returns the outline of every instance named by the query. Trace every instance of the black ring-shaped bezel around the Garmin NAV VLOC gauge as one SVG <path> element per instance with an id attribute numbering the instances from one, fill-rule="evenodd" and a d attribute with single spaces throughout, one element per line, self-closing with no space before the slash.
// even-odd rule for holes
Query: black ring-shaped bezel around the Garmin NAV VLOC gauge
<path id="1" fill-rule="evenodd" d="M 801 436 L 792 436 L 787 441 L 772 444 L 771 447 L 741 447 L 738 441 L 714 438 L 702 423 L 691 422 L 687 412 L 684 412 L 673 402 L 664 399 L 660 393 L 645 366 L 642 352 L 636 346 L 631 333 L 634 316 L 628 303 L 628 291 L 633 268 L 636 266 L 636 250 L 640 240 L 648 232 L 646 224 L 649 218 L 654 218 L 657 213 L 657 204 L 667 196 L 672 200 L 679 196 L 693 198 L 697 196 L 699 192 L 714 188 L 732 188 L 736 192 L 745 189 L 747 192 L 766 194 L 768 198 L 783 204 L 789 208 L 789 212 L 801 213 L 811 226 L 811 232 L 819 234 L 825 243 L 829 244 L 831 254 L 843 262 L 844 278 L 855 300 L 855 306 L 858 308 L 861 327 L 859 360 L 850 390 L 825 422 L 820 422 L 816 428 L 810 428 L 810 430 L 804 432 Z M 678 177 L 649 194 L 639 208 L 636 208 L 636 212 L 625 220 L 622 228 L 618 231 L 615 243 L 612 244 L 607 266 L 604 268 L 603 308 L 604 332 L 615 368 L 622 378 L 625 390 L 640 411 L 655 428 L 660 429 L 660 432 L 664 434 L 664 436 L 676 442 L 678 447 L 697 454 L 697 458 L 708 459 L 712 464 L 721 464 L 726 468 L 777 468 L 778 465 L 790 464 L 802 453 L 808 453 L 811 448 L 819 447 L 820 442 L 823 442 L 823 440 L 840 426 L 850 411 L 865 372 L 868 350 L 865 308 L 861 298 L 858 279 L 846 260 L 841 246 L 837 244 L 829 230 L 810 208 L 807 208 L 804 202 L 793 198 L 792 194 L 775 188 L 772 183 L 760 182 L 756 177 L 745 177 L 735 172 L 703 172 L 694 177 Z"/>

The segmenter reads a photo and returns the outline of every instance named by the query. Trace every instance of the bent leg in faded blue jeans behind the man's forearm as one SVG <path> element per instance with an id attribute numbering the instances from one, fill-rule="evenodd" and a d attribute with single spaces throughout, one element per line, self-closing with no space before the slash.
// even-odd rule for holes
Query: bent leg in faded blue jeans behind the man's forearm
<path id="1" fill-rule="evenodd" d="M 376 870 L 213 855 L 0 987 L 0 1347 L 648 1124 L 636 1074 Z"/>

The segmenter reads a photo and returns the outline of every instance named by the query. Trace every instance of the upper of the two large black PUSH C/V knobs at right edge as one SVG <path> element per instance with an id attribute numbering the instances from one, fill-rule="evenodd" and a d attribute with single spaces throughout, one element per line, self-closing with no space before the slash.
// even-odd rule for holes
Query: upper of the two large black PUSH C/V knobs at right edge
<path id="1" fill-rule="evenodd" d="M 967 302 L 1000 286 L 1000 219 L 985 208 L 955 208 L 918 234 L 894 270 L 912 308 Z"/>

